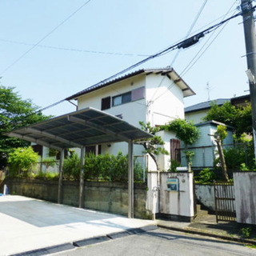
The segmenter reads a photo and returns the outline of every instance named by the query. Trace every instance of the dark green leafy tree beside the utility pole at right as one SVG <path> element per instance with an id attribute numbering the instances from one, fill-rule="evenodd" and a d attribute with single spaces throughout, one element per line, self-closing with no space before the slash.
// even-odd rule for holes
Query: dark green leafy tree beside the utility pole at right
<path id="1" fill-rule="evenodd" d="M 222 106 L 218 106 L 216 102 L 213 102 L 202 120 L 215 120 L 233 126 L 237 137 L 240 137 L 243 133 L 252 133 L 251 105 L 249 102 L 245 106 L 233 106 L 230 102 L 224 102 Z"/>

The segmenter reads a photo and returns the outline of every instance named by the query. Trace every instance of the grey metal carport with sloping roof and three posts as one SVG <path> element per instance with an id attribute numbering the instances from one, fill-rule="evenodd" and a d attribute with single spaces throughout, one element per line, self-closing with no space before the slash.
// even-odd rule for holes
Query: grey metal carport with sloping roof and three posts
<path id="1" fill-rule="evenodd" d="M 84 202 L 84 159 L 86 146 L 110 142 L 128 143 L 128 218 L 134 218 L 134 140 L 152 138 L 151 134 L 130 125 L 106 112 L 88 107 L 57 118 L 12 130 L 6 134 L 28 142 L 59 150 L 58 203 L 62 204 L 62 180 L 64 150 L 70 147 L 81 149 L 81 170 L 79 185 L 79 207 Z"/>

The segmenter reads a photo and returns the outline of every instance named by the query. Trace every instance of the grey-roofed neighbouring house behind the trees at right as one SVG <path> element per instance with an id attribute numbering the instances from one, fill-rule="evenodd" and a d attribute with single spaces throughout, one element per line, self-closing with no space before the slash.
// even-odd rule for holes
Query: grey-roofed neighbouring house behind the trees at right
<path id="1" fill-rule="evenodd" d="M 208 102 L 200 102 L 193 106 L 187 106 L 185 108 L 186 120 L 194 121 L 194 124 L 202 122 L 202 118 L 206 116 L 206 113 L 210 110 L 213 102 L 218 106 L 222 106 L 224 102 L 230 102 L 234 106 L 242 106 L 245 105 L 246 102 L 250 102 L 250 95 L 243 95 L 234 98 L 218 98 Z"/>

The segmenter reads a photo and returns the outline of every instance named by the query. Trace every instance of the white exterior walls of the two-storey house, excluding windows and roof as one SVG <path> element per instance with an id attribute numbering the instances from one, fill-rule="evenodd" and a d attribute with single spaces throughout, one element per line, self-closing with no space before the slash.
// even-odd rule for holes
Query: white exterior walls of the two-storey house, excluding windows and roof
<path id="1" fill-rule="evenodd" d="M 140 127 L 138 123 L 140 121 L 150 122 L 151 126 L 154 126 L 163 125 L 174 118 L 184 118 L 182 90 L 166 76 L 157 74 L 140 74 L 84 94 L 78 98 L 78 110 L 82 110 L 88 106 L 101 110 L 102 98 L 109 96 L 112 98 L 142 86 L 145 86 L 145 98 L 134 102 L 127 102 L 119 106 L 112 106 L 111 102 L 110 109 L 104 111 L 113 115 L 122 114 L 123 120 L 137 127 Z M 162 132 L 162 138 L 166 142 L 166 150 L 170 152 L 170 138 L 174 138 L 174 134 Z M 106 154 L 107 152 L 118 154 L 120 150 L 123 154 L 127 154 L 128 144 L 126 142 L 119 142 L 102 145 L 102 154 Z M 143 146 L 134 145 L 134 156 L 142 156 L 143 150 Z M 156 170 L 154 161 L 150 156 L 147 159 L 148 169 Z M 138 158 L 138 161 L 143 165 L 142 157 Z M 161 170 L 167 170 L 170 166 L 170 156 L 160 155 L 159 164 Z"/>

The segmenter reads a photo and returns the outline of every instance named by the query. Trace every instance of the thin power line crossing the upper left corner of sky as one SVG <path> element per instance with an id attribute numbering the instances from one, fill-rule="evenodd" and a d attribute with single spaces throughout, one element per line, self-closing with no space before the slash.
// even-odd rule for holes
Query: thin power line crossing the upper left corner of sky
<path id="1" fill-rule="evenodd" d="M 91 0 L 86 1 L 85 3 L 82 4 L 77 10 L 75 10 L 72 14 L 70 14 L 67 18 L 65 18 L 62 22 L 58 24 L 58 26 L 55 26 L 53 30 L 50 30 L 49 33 L 47 33 L 44 37 L 42 37 L 37 43 L 35 43 L 29 50 L 26 50 L 24 54 L 22 54 L 20 57 L 18 57 L 14 62 L 12 62 L 9 66 L 6 66 L 4 70 L 2 70 L 2 74 L 6 73 L 7 70 L 10 70 L 12 66 L 14 66 L 17 62 L 19 62 L 22 58 L 26 56 L 26 54 L 29 54 L 31 50 L 33 50 L 36 46 L 39 45 L 40 42 L 45 40 L 50 36 L 50 34 L 53 34 L 54 31 L 58 30 L 60 26 L 62 26 L 65 22 L 67 22 L 70 18 L 74 16 L 74 14 L 77 14 L 79 10 L 82 10 L 84 6 L 86 6 Z"/>

